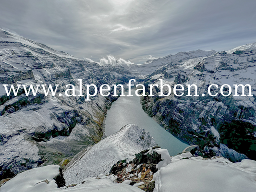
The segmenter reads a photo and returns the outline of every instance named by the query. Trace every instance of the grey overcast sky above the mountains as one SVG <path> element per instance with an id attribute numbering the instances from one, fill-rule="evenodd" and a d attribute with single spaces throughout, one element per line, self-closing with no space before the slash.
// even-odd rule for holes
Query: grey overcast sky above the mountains
<path id="1" fill-rule="evenodd" d="M 80 59 L 142 63 L 256 42 L 256 0 L 0 0 L 0 28 Z"/>

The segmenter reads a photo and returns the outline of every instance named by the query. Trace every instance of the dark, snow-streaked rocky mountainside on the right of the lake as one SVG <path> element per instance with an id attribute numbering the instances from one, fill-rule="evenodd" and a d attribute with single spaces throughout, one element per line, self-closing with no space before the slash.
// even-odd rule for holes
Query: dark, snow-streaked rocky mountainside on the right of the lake
<path id="1" fill-rule="evenodd" d="M 148 78 L 145 84 L 182 84 L 184 96 L 143 97 L 141 103 L 146 113 L 153 117 L 167 131 L 188 141 L 198 144 L 196 154 L 203 156 L 223 155 L 232 161 L 239 161 L 248 156 L 255 159 L 256 152 L 256 43 L 234 48 L 227 52 L 217 52 L 208 57 L 179 60 L 159 68 Z M 186 96 L 186 84 L 196 84 L 199 96 Z M 232 86 L 230 96 L 209 96 L 210 84 Z M 233 96 L 233 84 L 250 84 L 254 96 Z M 227 88 L 227 87 L 225 87 Z M 228 89 L 223 93 L 228 95 Z M 165 93 L 167 90 L 165 90 Z M 212 95 L 215 93 L 212 92 Z M 149 94 L 149 90 L 147 89 Z M 147 94 L 147 95 L 148 95 Z M 154 88 L 159 95 L 159 89 Z M 178 92 L 178 95 L 181 93 Z M 205 96 L 202 96 L 205 94 Z M 238 94 L 242 95 L 241 87 Z M 195 89 L 191 91 L 195 95 Z M 249 95 L 245 87 L 245 95 Z M 245 154 L 234 156 L 224 153 L 220 144 L 225 144 L 235 151 Z"/>

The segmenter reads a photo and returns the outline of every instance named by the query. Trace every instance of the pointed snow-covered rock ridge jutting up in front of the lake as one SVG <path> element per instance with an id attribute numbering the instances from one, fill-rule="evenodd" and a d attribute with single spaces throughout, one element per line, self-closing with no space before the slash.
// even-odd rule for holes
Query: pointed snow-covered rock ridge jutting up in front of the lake
<path id="1" fill-rule="evenodd" d="M 87 149 L 64 172 L 66 184 L 82 182 L 85 178 L 107 174 L 118 161 L 133 156 L 151 146 L 157 145 L 149 132 L 136 125 L 128 124 L 119 132 L 101 140 Z"/>

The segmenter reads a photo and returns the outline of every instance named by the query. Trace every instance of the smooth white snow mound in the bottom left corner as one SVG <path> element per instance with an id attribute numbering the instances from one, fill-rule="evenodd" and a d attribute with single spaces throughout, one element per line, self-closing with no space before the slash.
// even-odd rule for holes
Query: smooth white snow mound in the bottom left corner
<path id="1" fill-rule="evenodd" d="M 41 168 L 33 168 L 7 181 L 1 192 L 46 192 L 57 188 L 54 177 L 59 174 L 59 166 L 49 165 Z M 49 183 L 41 182 L 48 180 Z"/>

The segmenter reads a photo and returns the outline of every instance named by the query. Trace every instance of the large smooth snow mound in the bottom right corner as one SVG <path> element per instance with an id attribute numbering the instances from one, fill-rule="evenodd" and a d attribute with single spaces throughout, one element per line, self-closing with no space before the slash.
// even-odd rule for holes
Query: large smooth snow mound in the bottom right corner
<path id="1" fill-rule="evenodd" d="M 254 164 L 255 165 L 255 164 Z M 183 159 L 154 174 L 154 192 L 255 192 L 255 177 L 215 162 Z"/>

